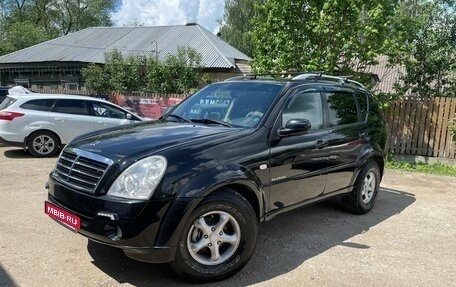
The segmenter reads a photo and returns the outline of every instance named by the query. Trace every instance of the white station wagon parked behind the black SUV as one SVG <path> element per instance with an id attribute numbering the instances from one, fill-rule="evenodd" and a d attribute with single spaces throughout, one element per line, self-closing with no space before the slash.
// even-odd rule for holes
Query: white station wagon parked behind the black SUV
<path id="1" fill-rule="evenodd" d="M 87 96 L 9 95 L 0 103 L 0 143 L 23 147 L 36 157 L 49 157 L 78 135 L 144 120 Z"/>

